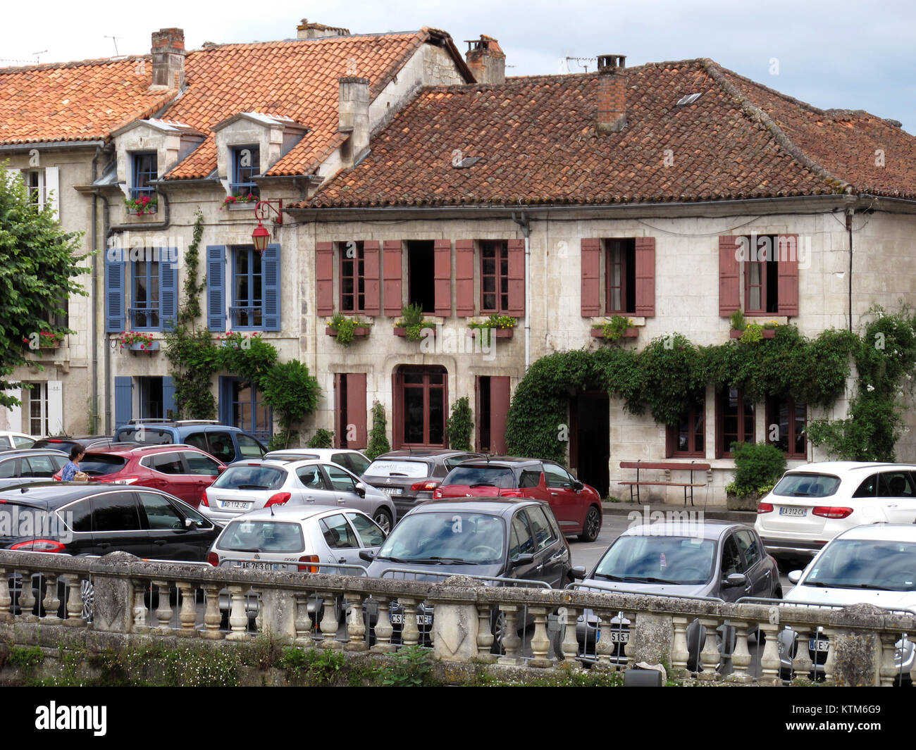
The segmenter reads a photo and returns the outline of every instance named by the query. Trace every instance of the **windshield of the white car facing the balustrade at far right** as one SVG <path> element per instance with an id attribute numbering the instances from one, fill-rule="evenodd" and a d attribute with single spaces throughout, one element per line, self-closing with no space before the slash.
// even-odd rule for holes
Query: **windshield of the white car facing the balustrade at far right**
<path id="1" fill-rule="evenodd" d="M 835 539 L 805 576 L 803 586 L 916 591 L 916 543 Z"/>

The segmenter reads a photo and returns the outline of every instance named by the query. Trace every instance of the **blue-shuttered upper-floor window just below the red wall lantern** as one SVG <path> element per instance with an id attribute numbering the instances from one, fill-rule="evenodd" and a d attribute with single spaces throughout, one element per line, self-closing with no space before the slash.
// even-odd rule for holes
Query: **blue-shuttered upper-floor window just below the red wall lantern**
<path id="1" fill-rule="evenodd" d="M 267 245 L 263 255 L 251 245 L 207 247 L 211 331 L 280 330 L 279 252 L 279 245 Z"/>

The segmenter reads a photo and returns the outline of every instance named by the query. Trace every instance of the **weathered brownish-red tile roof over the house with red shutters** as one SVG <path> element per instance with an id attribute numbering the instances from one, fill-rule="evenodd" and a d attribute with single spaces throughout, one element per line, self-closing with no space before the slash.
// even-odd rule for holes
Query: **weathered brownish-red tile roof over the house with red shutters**
<path id="1" fill-rule="evenodd" d="M 684 60 L 629 69 L 627 127 L 598 134 L 598 78 L 423 89 L 362 164 L 300 206 L 703 201 L 847 184 L 916 195 L 916 138 L 873 115 L 823 113 L 711 60 Z M 701 95 L 677 105 L 691 93 Z M 883 170 L 869 166 L 881 147 Z M 480 161 L 453 168 L 455 149 Z"/>

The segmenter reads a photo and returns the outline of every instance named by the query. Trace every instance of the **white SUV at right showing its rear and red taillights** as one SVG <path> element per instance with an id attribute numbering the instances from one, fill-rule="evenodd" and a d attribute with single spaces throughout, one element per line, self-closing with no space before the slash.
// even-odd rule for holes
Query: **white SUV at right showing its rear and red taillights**
<path id="1" fill-rule="evenodd" d="M 810 559 L 847 528 L 916 521 L 916 465 L 808 463 L 785 473 L 757 513 L 772 555 Z"/>

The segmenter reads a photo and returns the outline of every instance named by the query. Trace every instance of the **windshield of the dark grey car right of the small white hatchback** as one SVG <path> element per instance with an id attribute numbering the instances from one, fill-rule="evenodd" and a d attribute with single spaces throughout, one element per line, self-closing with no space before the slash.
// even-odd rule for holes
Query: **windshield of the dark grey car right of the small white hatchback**
<path id="1" fill-rule="evenodd" d="M 442 511 L 406 516 L 378 558 L 395 562 L 492 565 L 502 562 L 506 526 L 499 516 Z"/>

